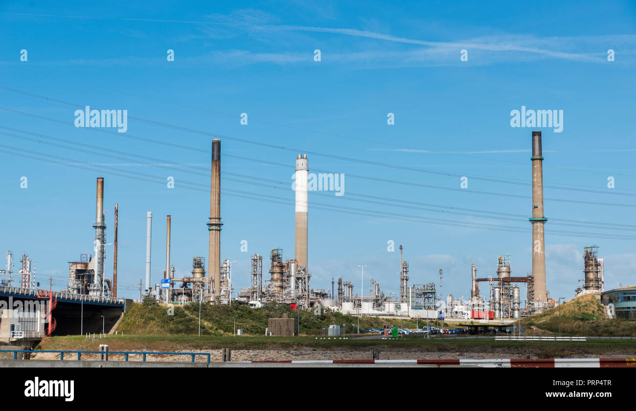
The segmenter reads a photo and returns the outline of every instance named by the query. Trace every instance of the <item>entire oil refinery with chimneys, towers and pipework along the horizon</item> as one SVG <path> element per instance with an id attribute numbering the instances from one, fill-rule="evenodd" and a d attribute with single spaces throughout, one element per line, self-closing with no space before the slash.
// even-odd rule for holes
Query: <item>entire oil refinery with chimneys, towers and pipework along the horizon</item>
<path id="1" fill-rule="evenodd" d="M 221 255 L 221 140 L 212 140 L 210 212 L 207 224 L 209 233 L 209 253 L 207 256 L 171 255 L 170 215 L 165 216 L 165 267 L 161 282 L 151 283 L 151 243 L 153 241 L 153 212 L 146 213 L 146 255 L 145 276 L 139 299 L 150 297 L 163 304 L 186 304 L 205 302 L 211 304 L 247 304 L 261 307 L 267 302 L 287 304 L 294 309 L 324 309 L 340 311 L 344 314 L 363 316 L 397 316 L 404 318 L 458 318 L 463 320 L 516 320 L 541 313 L 554 307 L 546 288 L 546 260 L 543 213 L 543 153 L 541 131 L 532 131 L 532 272 L 513 275 L 511 255 L 502 253 L 488 257 L 496 262 L 496 269 L 481 276 L 475 262 L 466 267 L 467 296 L 443 295 L 441 280 L 443 267 L 414 267 L 404 259 L 408 246 L 399 245 L 399 262 L 396 261 L 395 285 L 399 293 L 385 293 L 374 278 L 362 284 L 363 294 L 354 293 L 354 281 L 347 275 L 331 280 L 331 288 L 312 288 L 312 274 L 309 269 L 308 250 L 308 159 L 306 154 L 298 154 L 295 159 L 295 230 L 294 257 L 284 258 L 282 248 L 273 244 L 265 255 L 254 253 L 249 259 L 249 286 L 238 288 L 232 285 L 232 261 Z M 79 259 L 69 261 L 68 285 L 63 291 L 73 295 L 117 299 L 117 253 L 118 253 L 118 203 L 114 204 L 113 227 L 113 275 L 106 275 L 105 245 L 107 241 L 104 219 L 104 181 L 96 180 L 94 254 L 79 254 Z M 156 218 L 156 216 L 155 216 Z M 291 216 L 290 216 L 291 218 Z M 232 227 L 229 227 L 232 229 Z M 154 241 L 157 239 L 155 231 Z M 161 234 L 161 233 L 160 233 Z M 289 233 L 291 236 L 291 233 Z M 578 280 L 576 295 L 604 292 L 604 264 L 598 258 L 598 246 L 586 246 L 583 254 L 583 279 Z M 162 256 L 163 257 L 163 256 Z M 13 253 L 6 254 L 6 270 L 2 271 L 2 285 L 12 286 L 18 280 L 21 288 L 38 288 L 35 263 L 29 255 L 20 258 L 18 278 L 13 278 Z M 191 262 L 189 276 L 175 276 L 175 259 Z M 160 263 L 163 264 L 163 263 Z M 265 266 L 265 267 L 264 267 Z M 263 271 L 265 270 L 265 276 Z M 516 269 L 515 269 L 516 271 Z M 413 274 L 413 273 L 417 274 Z M 439 274 L 439 284 L 436 277 Z M 364 272 L 363 272 L 364 275 Z M 413 281 L 413 278 L 417 279 Z M 549 278 L 549 276 L 547 276 Z M 413 281 L 410 283 L 409 281 Z M 574 282 L 574 280 L 573 280 Z M 399 286 L 399 287 L 398 287 Z"/>

